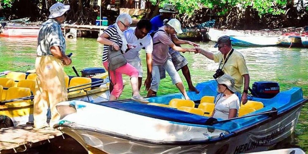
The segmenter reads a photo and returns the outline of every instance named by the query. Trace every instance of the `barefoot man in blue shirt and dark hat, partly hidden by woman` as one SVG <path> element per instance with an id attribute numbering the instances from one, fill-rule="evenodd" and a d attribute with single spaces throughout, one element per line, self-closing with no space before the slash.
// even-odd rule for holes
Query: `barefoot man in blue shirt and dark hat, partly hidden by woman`
<path id="1" fill-rule="evenodd" d="M 160 15 L 157 15 L 151 19 L 151 32 L 157 31 L 160 27 L 164 26 L 164 20 L 170 20 L 172 15 L 177 13 L 175 11 L 175 7 L 172 4 L 164 4 L 164 7 L 160 9 L 159 12 L 161 13 Z M 172 42 L 175 43 L 176 46 L 180 46 L 180 44 L 189 44 L 195 47 L 199 47 L 199 45 L 196 43 L 178 39 L 176 35 L 172 35 Z M 185 57 L 181 55 L 180 52 L 174 51 L 172 48 L 169 48 L 169 54 L 171 55 L 171 60 L 174 67 L 176 68 L 176 71 L 182 70 L 182 73 L 188 84 L 188 90 L 199 93 L 199 90 L 196 89 L 195 86 L 193 86 L 190 71 L 188 68 L 188 61 L 185 59 Z M 165 70 L 160 67 L 160 78 L 164 79 L 165 77 Z"/>

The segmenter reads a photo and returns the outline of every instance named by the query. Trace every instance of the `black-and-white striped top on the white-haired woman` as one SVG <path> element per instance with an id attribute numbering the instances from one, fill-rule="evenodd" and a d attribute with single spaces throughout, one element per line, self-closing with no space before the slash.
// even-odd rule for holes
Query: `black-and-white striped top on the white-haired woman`
<path id="1" fill-rule="evenodd" d="M 119 39 L 119 46 L 120 46 L 120 50 L 122 47 L 122 39 L 120 37 L 120 35 L 117 33 L 116 31 L 116 27 L 114 25 L 110 25 L 105 31 L 104 33 L 106 33 L 109 36 L 109 40 L 112 42 L 117 43 L 116 37 L 118 35 L 118 39 Z M 103 57 L 102 60 L 103 62 L 106 62 L 108 60 L 108 49 L 110 46 L 108 45 L 104 45 L 104 50 L 103 50 Z M 122 54 L 125 54 L 125 51 L 121 51 Z"/>

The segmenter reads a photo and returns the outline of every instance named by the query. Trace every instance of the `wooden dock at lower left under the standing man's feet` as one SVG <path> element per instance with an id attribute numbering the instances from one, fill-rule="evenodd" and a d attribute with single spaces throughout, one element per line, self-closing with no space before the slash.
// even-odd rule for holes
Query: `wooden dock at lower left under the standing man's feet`
<path id="1" fill-rule="evenodd" d="M 0 129 L 0 153 L 24 152 L 44 143 L 50 143 L 56 137 L 63 137 L 59 130 L 33 130 L 32 125 Z"/>

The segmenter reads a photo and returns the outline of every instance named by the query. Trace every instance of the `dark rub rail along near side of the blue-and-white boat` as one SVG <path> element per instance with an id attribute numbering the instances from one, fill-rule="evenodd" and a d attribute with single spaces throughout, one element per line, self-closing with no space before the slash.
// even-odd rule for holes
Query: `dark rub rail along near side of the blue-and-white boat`
<path id="1" fill-rule="evenodd" d="M 86 130 L 86 131 L 101 133 L 101 134 L 108 135 L 108 136 L 118 137 L 118 138 L 125 139 L 125 140 L 132 140 L 132 141 L 143 142 L 143 143 L 148 143 L 148 144 L 156 144 L 156 145 L 181 145 L 182 146 L 182 145 L 210 144 L 210 143 L 216 143 L 216 142 L 219 142 L 219 141 L 222 141 L 222 140 L 227 140 L 227 139 L 234 137 L 236 135 L 240 135 L 240 134 L 243 134 L 245 132 L 248 132 L 248 131 L 256 128 L 256 127 L 259 127 L 262 124 L 267 123 L 270 120 L 275 120 L 275 119 L 281 117 L 282 115 L 286 115 L 287 113 L 297 109 L 298 106 L 302 106 L 303 104 L 305 104 L 307 102 L 308 102 L 308 100 L 304 99 L 303 101 L 301 101 L 297 105 L 290 107 L 289 109 L 282 111 L 281 113 L 277 114 L 277 116 L 275 116 L 275 117 L 268 117 L 264 120 L 260 120 L 256 124 L 240 128 L 239 130 L 230 132 L 228 135 L 225 135 L 223 137 L 218 137 L 218 138 L 209 139 L 209 140 L 201 140 L 201 141 L 200 140 L 199 141 L 156 141 L 156 140 L 153 141 L 153 140 L 144 140 L 144 139 L 137 138 L 137 137 L 125 136 L 125 135 L 122 135 L 122 134 L 119 134 L 119 133 L 116 133 L 116 132 L 109 132 L 109 131 L 101 130 L 99 128 L 93 129 L 93 128 L 89 128 L 87 126 L 85 126 L 85 127 L 74 127 L 73 128 L 71 126 L 71 122 L 69 122 L 69 121 L 68 121 L 69 122 L 68 124 L 65 124 L 65 123 L 64 124 L 56 124 L 56 125 L 54 125 L 54 128 L 66 127 L 66 128 L 71 128 L 73 130 Z M 79 125 L 79 124 L 75 123 L 75 125 Z M 81 126 L 83 126 L 83 125 L 81 125 Z"/>

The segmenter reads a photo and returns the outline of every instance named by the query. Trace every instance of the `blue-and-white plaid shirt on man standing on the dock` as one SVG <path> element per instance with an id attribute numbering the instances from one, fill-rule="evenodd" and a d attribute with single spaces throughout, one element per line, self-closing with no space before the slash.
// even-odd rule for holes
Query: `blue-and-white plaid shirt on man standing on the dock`
<path id="1" fill-rule="evenodd" d="M 65 38 L 60 23 L 54 19 L 48 19 L 39 29 L 37 55 L 52 55 L 50 51 L 52 46 L 59 46 L 61 52 L 65 54 Z"/>

